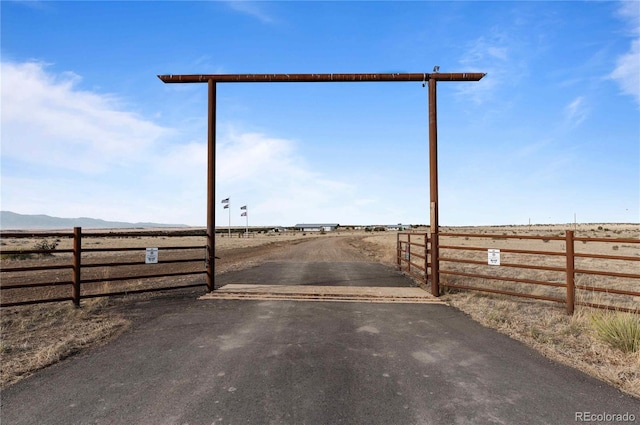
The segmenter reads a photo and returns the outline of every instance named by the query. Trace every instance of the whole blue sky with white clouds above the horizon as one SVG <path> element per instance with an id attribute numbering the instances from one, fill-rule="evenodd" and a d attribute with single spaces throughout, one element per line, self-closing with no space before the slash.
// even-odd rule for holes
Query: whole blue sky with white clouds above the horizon
<path id="1" fill-rule="evenodd" d="M 1 1 L 3 210 L 206 224 L 201 84 L 438 84 L 441 225 L 640 221 L 640 2 Z M 421 83 L 219 84 L 216 224 L 429 222 Z"/>

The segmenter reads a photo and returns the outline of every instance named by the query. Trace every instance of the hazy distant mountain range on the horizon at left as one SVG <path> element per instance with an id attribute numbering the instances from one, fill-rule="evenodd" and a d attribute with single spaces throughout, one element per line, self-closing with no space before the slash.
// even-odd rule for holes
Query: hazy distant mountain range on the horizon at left
<path id="1" fill-rule="evenodd" d="M 87 229 L 131 229 L 188 226 L 184 224 L 127 223 L 89 217 L 61 218 L 44 214 L 18 214 L 11 211 L 0 211 L 0 229 L 2 230 L 70 229 L 73 227 L 83 227 Z"/>

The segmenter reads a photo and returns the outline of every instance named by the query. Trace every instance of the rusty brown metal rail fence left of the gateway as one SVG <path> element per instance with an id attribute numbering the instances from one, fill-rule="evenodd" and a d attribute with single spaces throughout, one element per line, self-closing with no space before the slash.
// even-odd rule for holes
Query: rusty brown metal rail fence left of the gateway
<path id="1" fill-rule="evenodd" d="M 0 307 L 60 301 L 72 301 L 79 306 L 84 298 L 206 285 L 204 275 L 208 258 L 204 231 L 83 233 L 76 227 L 73 232 L 0 232 L 3 248 L 7 241 L 29 239 L 42 242 L 49 238 L 57 239 L 55 243 L 49 243 L 48 249 L 36 246 L 0 250 Z M 56 249 L 62 238 L 71 239 L 72 247 Z M 152 247 L 158 248 L 160 258 L 147 264 L 145 253 L 148 246 L 83 247 L 86 241 L 101 244 L 105 240 L 122 238 L 145 238 L 147 245 L 151 238 Z M 171 245 L 163 242 L 164 239 L 175 238 L 187 238 L 192 243 Z M 203 244 L 194 244 L 195 238 L 203 239 Z M 33 255 L 40 258 L 33 260 Z M 12 258 L 21 259 L 21 264 L 14 266 Z M 202 278 L 199 279 L 200 276 Z"/>

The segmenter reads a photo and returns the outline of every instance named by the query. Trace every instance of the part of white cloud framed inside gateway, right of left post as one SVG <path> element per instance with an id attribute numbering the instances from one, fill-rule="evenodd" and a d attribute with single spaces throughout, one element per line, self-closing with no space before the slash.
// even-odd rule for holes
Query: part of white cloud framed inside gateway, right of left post
<path id="1" fill-rule="evenodd" d="M 361 202 L 355 184 L 313 171 L 296 142 L 235 129 L 218 140 L 216 195 L 231 197 L 232 224 L 241 224 L 238 208 L 245 204 L 250 220 L 259 217 L 265 224 L 358 222 L 370 216 L 365 208 L 372 201 Z M 219 208 L 216 214 L 218 225 L 227 224 L 227 210 Z"/>

